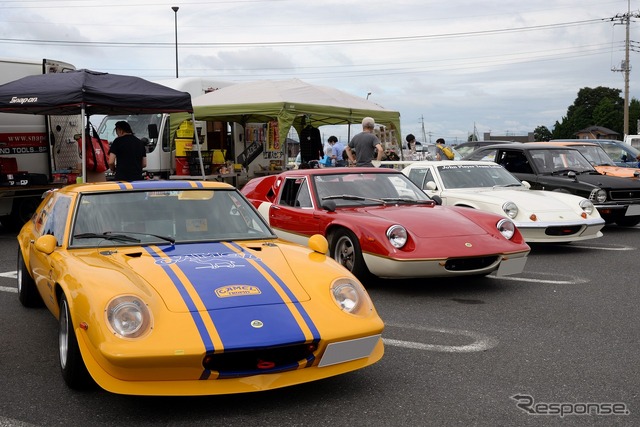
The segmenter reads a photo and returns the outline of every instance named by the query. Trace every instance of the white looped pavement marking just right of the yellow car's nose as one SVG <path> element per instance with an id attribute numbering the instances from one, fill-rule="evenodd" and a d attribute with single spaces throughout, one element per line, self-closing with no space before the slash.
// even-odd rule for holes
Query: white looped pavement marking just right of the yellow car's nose
<path id="1" fill-rule="evenodd" d="M 419 331 L 438 332 L 441 334 L 462 335 L 474 340 L 471 344 L 441 345 L 441 344 L 425 344 L 425 343 L 414 342 L 414 341 L 402 341 L 402 340 L 395 340 L 391 338 L 382 339 L 382 341 L 386 345 L 390 345 L 394 347 L 409 348 L 412 350 L 439 351 L 439 352 L 445 352 L 445 353 L 473 353 L 477 351 L 489 350 L 490 348 L 497 346 L 499 342 L 497 338 L 490 337 L 478 332 L 465 331 L 463 329 L 435 328 L 435 327 L 429 327 L 429 326 L 405 325 L 401 323 L 389 323 L 389 322 L 385 322 L 385 325 L 393 326 L 397 328 L 404 328 L 404 329 L 416 329 Z"/>

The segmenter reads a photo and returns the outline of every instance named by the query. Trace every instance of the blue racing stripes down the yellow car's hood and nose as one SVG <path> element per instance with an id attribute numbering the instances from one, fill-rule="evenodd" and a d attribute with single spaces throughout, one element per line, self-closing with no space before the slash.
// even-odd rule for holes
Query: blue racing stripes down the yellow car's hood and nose
<path id="1" fill-rule="evenodd" d="M 304 332 L 290 306 L 252 263 L 259 262 L 264 266 L 255 255 L 247 251 L 235 252 L 223 243 L 194 243 L 166 248 L 165 256 L 157 262 L 176 264 L 185 274 L 208 310 L 225 350 L 305 341 Z M 300 307 L 284 283 L 272 272 L 270 274 Z M 183 284 L 177 283 L 175 276 L 171 278 L 187 302 Z M 187 305 L 190 310 L 197 310 L 192 301 Z M 304 318 L 306 323 L 310 323 L 316 339 L 316 328 L 306 313 Z"/>

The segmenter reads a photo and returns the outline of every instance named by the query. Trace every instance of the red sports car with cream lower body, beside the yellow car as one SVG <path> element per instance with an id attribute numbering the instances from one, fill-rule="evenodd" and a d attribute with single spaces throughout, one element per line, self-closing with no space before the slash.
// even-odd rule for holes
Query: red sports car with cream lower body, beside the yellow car
<path id="1" fill-rule="evenodd" d="M 530 251 L 511 220 L 438 206 L 394 169 L 291 170 L 241 191 L 279 237 L 305 244 L 323 234 L 361 280 L 517 274 Z"/>

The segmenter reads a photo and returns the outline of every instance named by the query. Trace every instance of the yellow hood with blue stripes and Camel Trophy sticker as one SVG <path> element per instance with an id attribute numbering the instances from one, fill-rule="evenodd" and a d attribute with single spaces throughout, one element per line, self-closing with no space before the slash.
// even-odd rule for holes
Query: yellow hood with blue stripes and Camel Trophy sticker
<path id="1" fill-rule="evenodd" d="M 173 312 L 309 300 L 276 244 L 178 244 L 101 250 L 100 254 L 123 280 L 143 291 L 155 289 Z"/>

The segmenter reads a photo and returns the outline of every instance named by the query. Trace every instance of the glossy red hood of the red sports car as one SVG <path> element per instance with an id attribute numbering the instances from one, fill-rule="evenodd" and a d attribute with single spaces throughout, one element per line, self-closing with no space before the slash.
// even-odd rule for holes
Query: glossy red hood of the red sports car
<path id="1" fill-rule="evenodd" d="M 359 208 L 359 211 L 391 224 L 402 224 L 422 238 L 487 234 L 481 226 L 447 206 L 386 206 Z M 361 220 L 366 221 L 366 220 Z"/>

